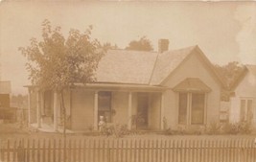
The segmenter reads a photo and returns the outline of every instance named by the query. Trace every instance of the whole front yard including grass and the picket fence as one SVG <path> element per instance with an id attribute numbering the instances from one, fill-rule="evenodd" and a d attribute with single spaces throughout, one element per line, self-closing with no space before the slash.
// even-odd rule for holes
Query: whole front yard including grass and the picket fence
<path id="1" fill-rule="evenodd" d="M 255 135 L 114 136 L 37 132 L 18 125 L 0 126 L 4 162 L 254 162 Z M 64 149 L 66 148 L 66 149 Z M 18 160 L 19 159 L 19 160 Z M 20 160 L 22 159 L 22 160 Z"/>

